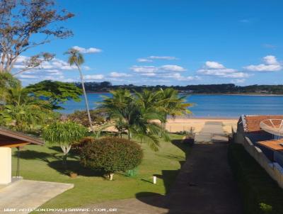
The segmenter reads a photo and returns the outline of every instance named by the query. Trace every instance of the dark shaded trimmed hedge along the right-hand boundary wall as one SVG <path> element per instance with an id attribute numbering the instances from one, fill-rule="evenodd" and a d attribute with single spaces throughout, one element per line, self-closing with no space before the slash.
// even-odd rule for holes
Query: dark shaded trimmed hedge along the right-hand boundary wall
<path id="1" fill-rule="evenodd" d="M 243 145 L 231 143 L 229 164 L 238 182 L 245 214 L 283 213 L 283 190 Z"/>

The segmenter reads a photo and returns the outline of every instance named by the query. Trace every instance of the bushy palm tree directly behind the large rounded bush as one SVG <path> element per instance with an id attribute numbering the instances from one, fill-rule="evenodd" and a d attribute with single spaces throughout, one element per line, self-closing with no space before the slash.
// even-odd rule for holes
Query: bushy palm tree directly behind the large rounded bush
<path id="1" fill-rule="evenodd" d="M 147 142 L 152 150 L 157 151 L 159 137 L 169 140 L 166 130 L 161 128 L 155 120 L 161 120 L 163 114 L 157 108 L 144 107 L 137 101 L 137 96 L 126 89 L 110 91 L 112 97 L 105 96 L 100 103 L 100 110 L 108 113 L 115 121 L 115 128 L 120 132 L 127 132 L 128 139 L 135 137 L 141 142 Z"/>

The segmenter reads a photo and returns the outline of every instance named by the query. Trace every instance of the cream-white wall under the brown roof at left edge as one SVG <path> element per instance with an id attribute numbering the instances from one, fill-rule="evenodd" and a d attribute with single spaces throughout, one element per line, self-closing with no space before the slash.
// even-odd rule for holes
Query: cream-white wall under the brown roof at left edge
<path id="1" fill-rule="evenodd" d="M 9 147 L 0 147 L 0 184 L 11 183 L 12 152 Z"/>

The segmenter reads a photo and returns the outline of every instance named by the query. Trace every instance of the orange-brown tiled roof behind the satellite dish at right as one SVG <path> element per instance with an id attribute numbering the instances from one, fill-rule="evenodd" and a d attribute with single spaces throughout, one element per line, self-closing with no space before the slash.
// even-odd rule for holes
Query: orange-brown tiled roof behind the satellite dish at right
<path id="1" fill-rule="evenodd" d="M 244 129 L 246 132 L 260 131 L 260 122 L 267 119 L 283 119 L 283 116 L 243 116 L 245 120 Z M 266 124 L 268 121 L 266 122 Z M 278 123 L 278 124 L 277 124 Z M 275 125 L 279 125 L 279 120 L 275 120 Z M 268 124 L 267 124 L 268 125 Z M 270 124 L 271 125 L 271 124 Z"/>

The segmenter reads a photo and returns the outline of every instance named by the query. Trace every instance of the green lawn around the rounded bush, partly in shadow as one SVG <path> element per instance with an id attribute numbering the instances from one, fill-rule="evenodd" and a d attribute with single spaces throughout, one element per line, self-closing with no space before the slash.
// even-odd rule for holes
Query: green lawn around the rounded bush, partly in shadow
<path id="1" fill-rule="evenodd" d="M 62 153 L 59 147 L 28 145 L 21 151 L 20 175 L 24 179 L 72 183 L 74 188 L 48 201 L 44 208 L 69 208 L 102 201 L 134 198 L 150 193 L 165 194 L 175 180 L 180 162 L 190 147 L 180 142 L 181 135 L 171 135 L 173 142 L 161 142 L 161 149 L 153 152 L 142 145 L 144 159 L 135 177 L 115 174 L 114 181 L 108 181 L 90 169 L 79 165 L 79 157 L 69 157 L 68 169 L 77 171 L 79 176 L 71 179 L 64 174 Z M 16 152 L 16 150 L 14 150 Z M 14 154 L 15 156 L 16 154 Z M 13 174 L 16 174 L 16 157 L 13 157 Z M 152 176 L 158 176 L 158 183 L 151 184 Z"/>

